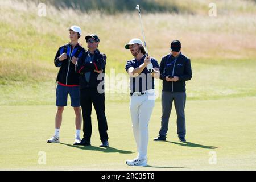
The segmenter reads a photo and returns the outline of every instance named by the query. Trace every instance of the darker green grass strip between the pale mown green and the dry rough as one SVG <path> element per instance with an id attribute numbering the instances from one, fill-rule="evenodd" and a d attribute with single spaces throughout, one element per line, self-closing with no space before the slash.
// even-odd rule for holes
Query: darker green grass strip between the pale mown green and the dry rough
<path id="1" fill-rule="evenodd" d="M 120 65 L 123 71 L 124 64 Z M 54 65 L 52 65 L 54 67 Z M 49 68 L 55 69 L 55 68 Z M 45 69 L 44 69 L 45 70 Z M 254 60 L 192 60 L 193 78 L 187 82 L 188 100 L 218 100 L 222 98 L 241 98 L 256 96 L 256 63 Z M 55 104 L 55 73 L 52 79 L 38 76 L 33 81 L 26 80 L 28 75 L 17 74 L 16 81 L 3 79 L 0 94 L 0 105 L 54 105 Z M 15 73 L 15 72 L 14 72 Z M 42 71 L 42 74 L 46 73 Z M 114 74 L 115 73 L 115 74 Z M 16 74 L 16 73 L 15 73 Z M 107 71 L 106 100 L 110 102 L 123 102 L 129 100 L 129 78 L 126 73 L 126 83 L 118 79 L 118 70 L 112 68 Z M 114 75 L 114 76 L 112 76 Z M 49 75 L 51 76 L 51 75 Z M 40 79 L 41 78 L 41 79 Z M 118 92 L 118 84 L 123 84 L 126 92 Z M 113 85 L 114 84 L 114 85 Z M 160 96 L 162 81 L 156 80 L 157 92 Z M 113 87 L 115 86 L 115 87 Z M 115 90 L 113 90 L 115 88 Z M 160 100 L 160 97 L 158 97 Z"/>

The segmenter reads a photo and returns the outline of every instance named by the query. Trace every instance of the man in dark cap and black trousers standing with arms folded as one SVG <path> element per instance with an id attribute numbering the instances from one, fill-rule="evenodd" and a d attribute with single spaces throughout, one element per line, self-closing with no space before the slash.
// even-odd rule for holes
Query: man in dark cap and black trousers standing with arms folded
<path id="1" fill-rule="evenodd" d="M 76 72 L 80 74 L 80 102 L 82 107 L 84 137 L 75 145 L 90 146 L 92 136 L 92 104 L 98 120 L 100 147 L 109 147 L 108 123 L 105 114 L 104 76 L 106 55 L 98 49 L 100 38 L 91 34 L 85 37 L 88 50 L 77 61 Z M 103 74 L 102 74 L 103 73 Z"/>

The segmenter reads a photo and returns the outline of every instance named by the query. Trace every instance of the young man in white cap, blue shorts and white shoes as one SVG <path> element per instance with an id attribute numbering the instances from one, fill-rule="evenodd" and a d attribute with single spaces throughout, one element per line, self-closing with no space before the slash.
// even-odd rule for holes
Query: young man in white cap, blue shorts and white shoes
<path id="1" fill-rule="evenodd" d="M 55 134 L 52 138 L 47 140 L 47 143 L 60 142 L 60 126 L 62 122 L 62 113 L 64 106 L 67 106 L 68 94 L 71 98 L 71 106 L 74 108 L 76 119 L 76 134 L 75 143 L 80 142 L 81 130 L 81 108 L 80 108 L 80 94 L 79 94 L 79 74 L 75 72 L 75 64 L 82 53 L 85 51 L 78 42 L 82 31 L 79 26 L 72 26 L 68 28 L 70 42 L 61 46 L 55 56 L 54 64 L 59 67 L 57 75 L 56 87 L 56 106 L 57 112 L 55 116 Z"/>

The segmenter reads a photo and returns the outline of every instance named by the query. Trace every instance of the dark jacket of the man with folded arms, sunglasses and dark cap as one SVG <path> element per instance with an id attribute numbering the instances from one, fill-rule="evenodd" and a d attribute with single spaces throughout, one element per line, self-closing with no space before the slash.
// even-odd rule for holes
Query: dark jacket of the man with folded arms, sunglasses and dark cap
<path id="1" fill-rule="evenodd" d="M 89 63 L 85 63 L 85 59 L 88 56 L 88 51 L 85 51 L 80 59 L 77 61 L 75 71 L 76 73 L 80 74 L 80 89 L 85 88 L 97 88 L 98 84 L 100 85 L 102 89 L 104 89 L 104 76 L 105 74 L 100 75 L 97 72 L 94 72 L 94 70 L 100 71 L 102 70 L 103 73 L 105 73 L 105 66 L 106 66 L 106 55 L 104 53 L 100 53 L 98 49 L 94 51 L 94 58 L 93 61 Z M 86 81 L 84 73 L 91 72 L 90 73 L 90 80 L 89 82 Z M 102 82 L 103 81 L 103 82 Z"/>

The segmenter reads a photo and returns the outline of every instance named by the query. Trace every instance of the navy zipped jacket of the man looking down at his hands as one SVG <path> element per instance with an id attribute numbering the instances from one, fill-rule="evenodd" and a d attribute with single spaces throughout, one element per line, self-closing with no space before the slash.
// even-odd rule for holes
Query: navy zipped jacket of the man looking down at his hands
<path id="1" fill-rule="evenodd" d="M 160 79 L 163 80 L 163 91 L 169 92 L 185 92 L 185 81 L 191 80 L 192 69 L 191 61 L 180 53 L 176 61 L 169 54 L 162 58 L 160 63 Z M 178 76 L 179 81 L 177 82 L 167 82 L 166 76 Z"/>

